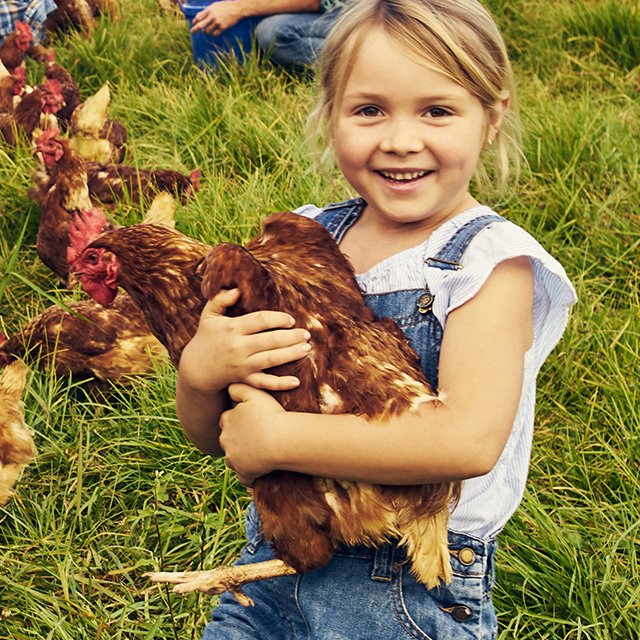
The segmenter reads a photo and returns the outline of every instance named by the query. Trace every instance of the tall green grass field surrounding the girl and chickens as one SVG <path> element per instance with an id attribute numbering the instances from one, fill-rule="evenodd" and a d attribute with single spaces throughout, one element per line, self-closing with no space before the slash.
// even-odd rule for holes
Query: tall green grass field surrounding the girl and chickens
<path id="1" fill-rule="evenodd" d="M 500 639 L 637 640 L 640 5 L 489 5 L 516 69 L 527 162 L 514 193 L 488 204 L 556 256 L 579 295 L 539 379 L 526 495 L 500 535 Z M 256 56 L 203 73 L 183 17 L 155 0 L 121 7 L 121 22 L 50 44 L 83 96 L 109 83 L 130 164 L 201 170 L 180 231 L 245 242 L 271 212 L 352 195 L 307 151 L 311 77 Z M 29 78 L 41 75 L 30 61 Z M 0 145 L 5 334 L 80 296 L 35 253 L 34 168 L 26 143 Z M 122 203 L 115 217 L 141 212 Z M 232 562 L 248 497 L 224 461 L 186 439 L 174 386 L 168 365 L 104 395 L 33 367 L 24 402 L 38 454 L 0 508 L 0 639 L 200 637 L 215 598 L 177 596 L 143 574 Z"/>

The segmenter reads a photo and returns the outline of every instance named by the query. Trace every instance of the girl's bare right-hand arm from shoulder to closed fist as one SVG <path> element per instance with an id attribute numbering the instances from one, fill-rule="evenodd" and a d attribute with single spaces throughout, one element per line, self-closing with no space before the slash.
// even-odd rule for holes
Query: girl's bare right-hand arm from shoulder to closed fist
<path id="1" fill-rule="evenodd" d="M 439 369 L 444 402 L 372 424 L 287 413 L 268 394 L 233 385 L 239 404 L 222 415 L 220 443 L 248 484 L 273 469 L 382 484 L 483 475 L 509 437 L 532 340 L 532 270 L 528 258 L 516 258 L 449 314 Z"/>

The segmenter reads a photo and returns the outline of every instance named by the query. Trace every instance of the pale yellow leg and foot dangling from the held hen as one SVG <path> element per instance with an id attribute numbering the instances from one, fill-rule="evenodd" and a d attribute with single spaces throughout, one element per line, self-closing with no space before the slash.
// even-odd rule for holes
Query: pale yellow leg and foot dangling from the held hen
<path id="1" fill-rule="evenodd" d="M 229 591 L 243 607 L 249 607 L 253 606 L 253 601 L 244 594 L 242 585 L 269 578 L 292 576 L 295 573 L 293 567 L 276 559 L 255 564 L 218 567 L 209 571 L 159 571 L 145 573 L 145 576 L 153 582 L 175 585 L 174 593 L 202 591 L 209 595 L 218 595 L 223 591 Z"/>

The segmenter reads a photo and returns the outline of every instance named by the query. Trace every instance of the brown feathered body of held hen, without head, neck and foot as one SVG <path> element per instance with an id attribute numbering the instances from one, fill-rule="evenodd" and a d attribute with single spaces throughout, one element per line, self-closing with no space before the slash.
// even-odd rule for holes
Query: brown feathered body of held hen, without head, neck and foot
<path id="1" fill-rule="evenodd" d="M 210 298 L 234 287 L 241 295 L 229 315 L 285 311 L 311 333 L 307 358 L 271 370 L 300 380 L 294 390 L 274 392 L 285 409 L 384 422 L 434 400 L 404 334 L 366 306 L 350 263 L 319 224 L 275 214 L 246 248 L 214 247 L 205 260 L 203 292 Z M 253 497 L 265 537 L 298 571 L 327 564 L 340 542 L 377 545 L 399 538 L 418 577 L 433 586 L 450 577 L 446 520 L 459 488 L 367 485 L 278 471 L 256 480 Z M 421 540 L 429 541 L 427 553 Z M 433 556 L 438 561 L 430 564 Z"/>

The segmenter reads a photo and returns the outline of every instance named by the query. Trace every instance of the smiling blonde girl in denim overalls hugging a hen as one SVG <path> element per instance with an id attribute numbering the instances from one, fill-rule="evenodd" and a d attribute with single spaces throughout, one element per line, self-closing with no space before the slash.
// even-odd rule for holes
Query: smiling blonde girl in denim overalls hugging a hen
<path id="1" fill-rule="evenodd" d="M 223 595 L 203 637 L 495 638 L 496 536 L 524 491 L 536 375 L 575 302 L 562 267 L 470 191 L 486 159 L 504 179 L 517 151 L 505 46 L 476 0 L 357 0 L 327 40 L 320 83 L 317 129 L 360 197 L 299 213 L 334 234 L 367 304 L 400 324 L 443 403 L 380 428 L 284 411 L 266 390 L 297 380 L 264 369 L 303 358 L 309 334 L 285 313 L 226 317 L 230 290 L 184 350 L 178 415 L 247 486 L 274 469 L 464 480 L 450 518 L 454 578 L 427 590 L 393 541 L 345 546 L 323 569 L 248 585 L 254 607 Z M 241 562 L 272 557 L 254 508 L 247 533 Z"/>

